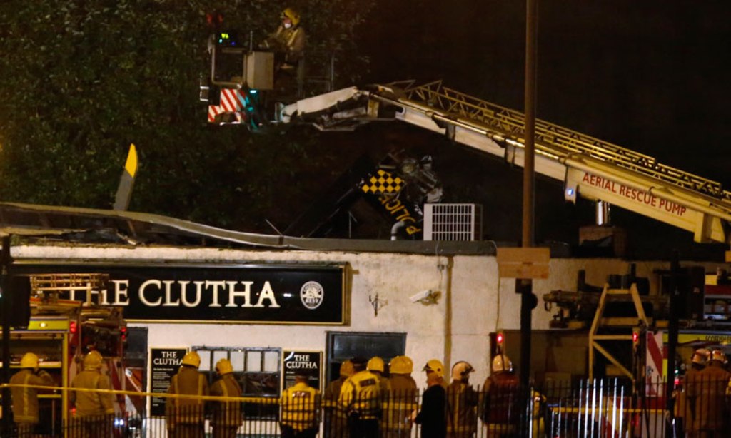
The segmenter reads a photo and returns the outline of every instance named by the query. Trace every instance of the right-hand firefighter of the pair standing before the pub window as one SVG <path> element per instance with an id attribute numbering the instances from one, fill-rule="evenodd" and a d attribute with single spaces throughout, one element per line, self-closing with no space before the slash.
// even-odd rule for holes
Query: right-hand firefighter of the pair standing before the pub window
<path id="1" fill-rule="evenodd" d="M 240 397 L 241 386 L 233 374 L 233 366 L 228 359 L 216 362 L 216 374 L 219 380 L 211 385 L 212 396 Z M 213 438 L 234 438 L 241 425 L 241 403 L 239 401 L 221 401 L 213 405 Z"/>

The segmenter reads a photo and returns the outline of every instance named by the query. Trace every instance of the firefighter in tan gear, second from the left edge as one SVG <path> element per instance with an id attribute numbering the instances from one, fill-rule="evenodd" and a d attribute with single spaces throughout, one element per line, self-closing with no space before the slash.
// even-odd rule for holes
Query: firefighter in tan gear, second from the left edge
<path id="1" fill-rule="evenodd" d="M 102 355 L 93 350 L 83 360 L 83 371 L 76 374 L 71 382 L 72 388 L 99 389 L 110 391 L 112 384 L 109 376 L 102 374 Z M 71 391 L 71 404 L 75 406 L 75 437 L 108 437 L 112 431 L 114 398 L 111 393 L 91 391 Z"/>

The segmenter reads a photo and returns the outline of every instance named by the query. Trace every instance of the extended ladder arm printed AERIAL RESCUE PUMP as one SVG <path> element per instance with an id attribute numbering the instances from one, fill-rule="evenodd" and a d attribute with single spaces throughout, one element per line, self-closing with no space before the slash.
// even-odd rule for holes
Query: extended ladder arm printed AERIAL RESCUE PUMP
<path id="1" fill-rule="evenodd" d="M 355 108 L 352 102 L 359 101 Z M 278 118 L 325 131 L 395 118 L 511 164 L 524 161 L 523 113 L 446 88 L 442 81 L 344 88 L 289 104 Z M 536 121 L 535 151 L 536 172 L 563 181 L 568 201 L 577 196 L 606 201 L 691 231 L 696 242 L 730 243 L 731 191 L 720 183 L 543 120 Z"/>

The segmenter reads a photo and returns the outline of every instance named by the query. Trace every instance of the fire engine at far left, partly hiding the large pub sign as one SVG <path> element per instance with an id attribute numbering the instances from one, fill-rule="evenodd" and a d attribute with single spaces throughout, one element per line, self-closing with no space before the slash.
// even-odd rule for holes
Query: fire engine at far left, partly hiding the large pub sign
<path id="1" fill-rule="evenodd" d="M 108 283 L 109 275 L 98 273 L 32 274 L 15 281 L 14 293 L 23 295 L 18 288 L 28 288 L 30 318 L 27 325 L 16 323 L 10 331 L 11 368 L 18 368 L 20 358 L 32 352 L 56 385 L 68 387 L 80 372 L 86 353 L 96 350 L 102 355 L 102 372 L 109 375 L 113 389 L 124 390 L 122 357 L 127 327 L 122 309 L 97 306 L 91 299 L 105 291 Z M 81 294 L 85 301 L 75 299 Z M 124 396 L 115 397 L 119 418 L 131 409 Z M 39 410 L 42 417 L 50 418 L 40 425 L 44 434 L 66 433 L 63 425 L 73 410 L 66 391 L 40 394 Z"/>

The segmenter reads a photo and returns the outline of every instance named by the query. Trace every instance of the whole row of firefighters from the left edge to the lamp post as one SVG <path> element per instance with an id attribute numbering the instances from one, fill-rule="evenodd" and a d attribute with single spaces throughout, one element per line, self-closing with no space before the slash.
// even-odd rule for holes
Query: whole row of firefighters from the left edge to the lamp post
<path id="1" fill-rule="evenodd" d="M 327 437 L 409 437 L 414 423 L 421 425 L 422 437 L 474 437 L 477 416 L 493 427 L 504 427 L 505 434 L 518 420 L 518 379 L 512 373 L 507 356 L 496 356 L 493 373 L 482 395 L 469 384 L 474 371 L 471 364 L 458 361 L 452 366 L 452 382 L 444 380 L 444 365 L 431 359 L 425 366 L 428 388 L 418 399 L 419 390 L 412 377 L 414 364 L 407 356 L 396 356 L 389 362 L 385 377 L 385 361 L 379 357 L 352 358 L 340 366 L 338 379 L 333 380 L 320 397 L 308 385 L 306 374 L 296 374 L 295 384 L 284 389 L 280 398 L 282 437 L 314 438 L 319 431 L 321 410 L 325 413 Z M 231 362 L 221 358 L 215 366 L 218 379 L 209 386 L 208 378 L 199 371 L 200 356 L 186 353 L 178 373 L 170 380 L 165 404 L 165 423 L 169 437 L 205 436 L 205 418 L 210 413 L 214 438 L 234 438 L 242 421 L 240 383 Z M 38 388 L 28 385 L 53 386 L 52 377 L 39 369 L 38 357 L 26 353 L 20 371 L 12 384 L 12 410 L 20 436 L 32 436 L 39 423 Z M 101 372 L 102 356 L 91 351 L 83 358 L 83 369 L 72 380 L 69 399 L 73 414 L 69 427 L 72 437 L 111 436 L 114 407 L 109 377 Z M 493 394 L 491 396 L 491 394 Z M 206 401 L 202 396 L 230 397 Z M 208 409 L 206 409 L 208 404 Z M 512 411 L 511 411 L 512 409 Z"/>

